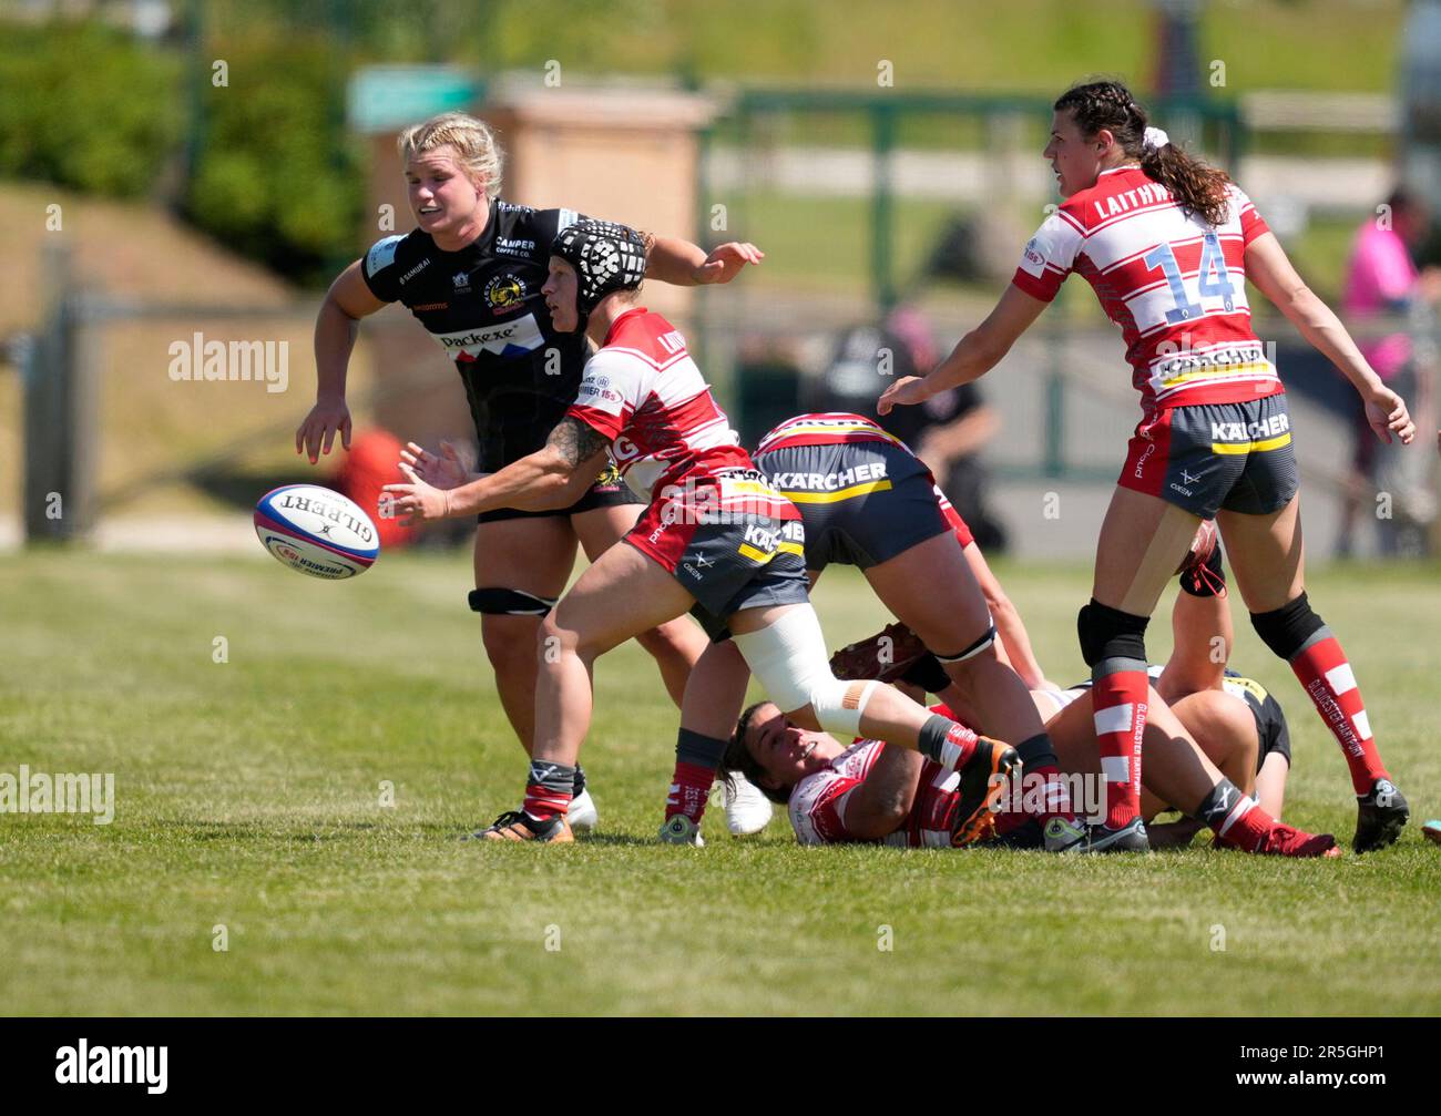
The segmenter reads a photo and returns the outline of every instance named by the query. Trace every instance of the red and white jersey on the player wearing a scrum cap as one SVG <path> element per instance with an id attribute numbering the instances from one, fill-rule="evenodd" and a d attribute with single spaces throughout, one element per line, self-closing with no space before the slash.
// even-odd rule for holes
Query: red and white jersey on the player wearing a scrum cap
<path id="1" fill-rule="evenodd" d="M 585 363 L 566 415 L 611 439 L 621 475 L 647 500 L 683 480 L 755 468 L 686 351 L 686 338 L 644 307 L 611 324 L 605 344 Z"/>

